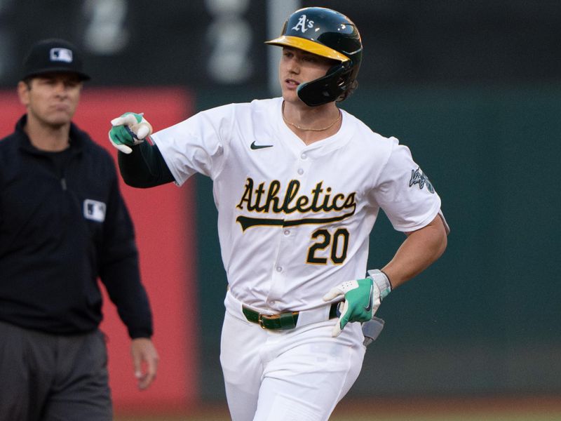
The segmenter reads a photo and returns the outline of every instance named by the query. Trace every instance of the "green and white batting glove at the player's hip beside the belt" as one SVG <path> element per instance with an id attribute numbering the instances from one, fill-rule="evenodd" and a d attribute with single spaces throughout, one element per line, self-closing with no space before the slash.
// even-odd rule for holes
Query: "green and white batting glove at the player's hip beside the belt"
<path id="1" fill-rule="evenodd" d="M 342 306 L 339 305 L 340 315 L 333 326 L 332 336 L 339 336 L 346 323 L 364 323 L 371 320 L 380 307 L 381 300 L 390 292 L 391 283 L 388 277 L 378 269 L 368 271 L 368 277 L 365 279 L 346 281 L 332 288 L 323 296 L 324 301 L 344 298 Z"/>

